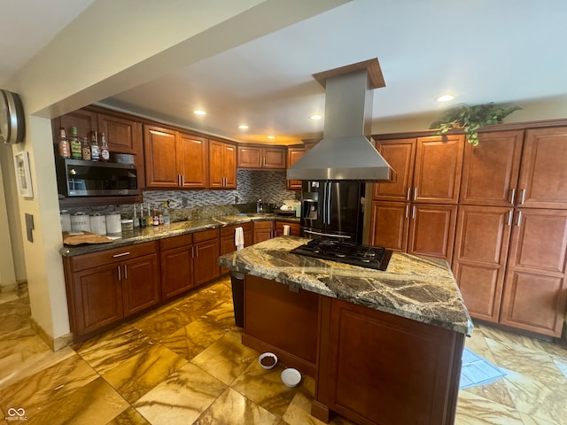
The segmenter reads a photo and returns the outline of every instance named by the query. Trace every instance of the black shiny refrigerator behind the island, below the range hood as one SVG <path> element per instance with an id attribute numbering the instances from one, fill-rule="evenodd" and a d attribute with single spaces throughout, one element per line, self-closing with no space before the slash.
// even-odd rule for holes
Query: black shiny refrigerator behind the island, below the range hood
<path id="1" fill-rule="evenodd" d="M 364 184 L 360 182 L 304 181 L 303 235 L 361 243 L 363 197 Z"/>

